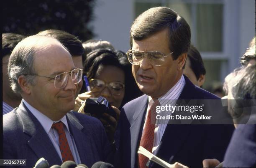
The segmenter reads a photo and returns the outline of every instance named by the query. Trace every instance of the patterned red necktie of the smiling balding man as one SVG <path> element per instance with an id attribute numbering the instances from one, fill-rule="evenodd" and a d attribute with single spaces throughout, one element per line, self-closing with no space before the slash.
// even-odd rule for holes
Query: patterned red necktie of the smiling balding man
<path id="1" fill-rule="evenodd" d="M 64 125 L 61 121 L 52 124 L 52 128 L 56 129 L 59 134 L 59 148 L 61 150 L 62 161 L 74 161 L 73 155 L 69 148 L 69 143 L 67 141 L 66 133 L 64 131 Z"/>

